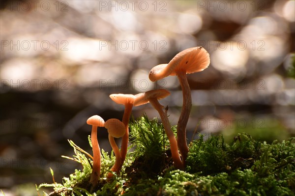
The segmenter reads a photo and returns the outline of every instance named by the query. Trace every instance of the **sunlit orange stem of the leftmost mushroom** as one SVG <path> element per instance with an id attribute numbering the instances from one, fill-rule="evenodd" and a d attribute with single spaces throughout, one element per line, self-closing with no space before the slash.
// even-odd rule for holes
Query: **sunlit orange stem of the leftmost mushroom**
<path id="1" fill-rule="evenodd" d="M 91 144 L 92 144 L 92 151 L 93 151 L 93 166 L 92 166 L 92 173 L 90 177 L 90 183 L 92 187 L 94 187 L 100 175 L 100 148 L 97 141 L 97 126 L 92 125 L 91 130 Z"/>

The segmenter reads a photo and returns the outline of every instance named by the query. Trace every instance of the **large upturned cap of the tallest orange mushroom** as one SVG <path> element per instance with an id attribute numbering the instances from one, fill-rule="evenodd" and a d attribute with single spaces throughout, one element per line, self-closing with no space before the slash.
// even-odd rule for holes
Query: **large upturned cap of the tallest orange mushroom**
<path id="1" fill-rule="evenodd" d="M 203 47 L 185 49 L 179 52 L 168 64 L 160 64 L 153 67 L 149 72 L 150 81 L 176 75 L 177 71 L 195 73 L 205 70 L 210 64 L 209 53 Z"/>

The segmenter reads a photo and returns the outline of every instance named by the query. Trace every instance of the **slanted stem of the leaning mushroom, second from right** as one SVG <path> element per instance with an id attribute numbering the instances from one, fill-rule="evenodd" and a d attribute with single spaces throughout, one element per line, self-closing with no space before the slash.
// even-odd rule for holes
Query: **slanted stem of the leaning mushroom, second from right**
<path id="1" fill-rule="evenodd" d="M 162 105 L 159 103 L 157 98 L 149 98 L 148 100 L 150 104 L 158 111 L 161 117 L 165 132 L 170 142 L 171 154 L 174 161 L 174 165 L 177 169 L 183 170 L 184 166 L 178 153 L 177 142 L 176 142 L 174 133 L 172 131 L 171 125 L 169 123 L 168 117 L 167 115 L 165 115 L 162 109 Z"/>

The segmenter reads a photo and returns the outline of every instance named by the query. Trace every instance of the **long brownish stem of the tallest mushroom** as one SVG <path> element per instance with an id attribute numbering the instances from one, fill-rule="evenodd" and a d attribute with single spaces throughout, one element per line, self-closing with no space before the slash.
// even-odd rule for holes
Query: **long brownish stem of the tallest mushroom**
<path id="1" fill-rule="evenodd" d="M 183 164 L 185 165 L 188 147 L 186 142 L 186 124 L 188 122 L 189 114 L 192 108 L 191 91 L 188 85 L 187 76 L 185 72 L 177 72 L 181 89 L 182 89 L 182 109 L 177 123 L 177 145 L 181 154 Z"/>

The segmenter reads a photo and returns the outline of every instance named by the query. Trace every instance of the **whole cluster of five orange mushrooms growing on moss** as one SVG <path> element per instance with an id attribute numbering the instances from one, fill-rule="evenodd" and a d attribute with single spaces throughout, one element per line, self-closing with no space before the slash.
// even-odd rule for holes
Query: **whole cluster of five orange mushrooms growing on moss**
<path id="1" fill-rule="evenodd" d="M 165 98 L 170 95 L 170 92 L 165 89 L 151 90 L 137 95 L 131 94 L 112 94 L 110 98 L 118 104 L 125 106 L 122 121 L 118 119 L 104 120 L 97 115 L 90 117 L 87 123 L 92 125 L 91 143 L 93 150 L 93 166 L 90 177 L 90 183 L 95 186 L 100 175 L 100 148 L 97 141 L 97 127 L 105 127 L 109 133 L 109 141 L 116 156 L 115 165 L 111 172 L 108 173 L 108 178 L 113 176 L 113 172 L 118 173 L 125 161 L 129 140 L 128 123 L 131 116 L 133 106 L 139 106 L 150 103 L 159 113 L 162 120 L 165 132 L 170 142 L 172 158 L 176 169 L 183 170 L 185 160 L 189 151 L 186 142 L 186 124 L 192 107 L 192 98 L 190 88 L 187 81 L 187 73 L 201 72 L 210 64 L 209 54 L 202 47 L 185 49 L 179 52 L 168 64 L 160 64 L 151 69 L 149 79 L 154 82 L 169 75 L 177 75 L 183 96 L 182 110 L 177 123 L 177 139 L 172 131 L 170 122 L 167 116 L 167 110 L 163 110 L 163 106 L 158 102 L 158 99 Z M 114 140 L 122 137 L 121 149 Z M 179 155 L 179 152 L 180 155 Z"/>

